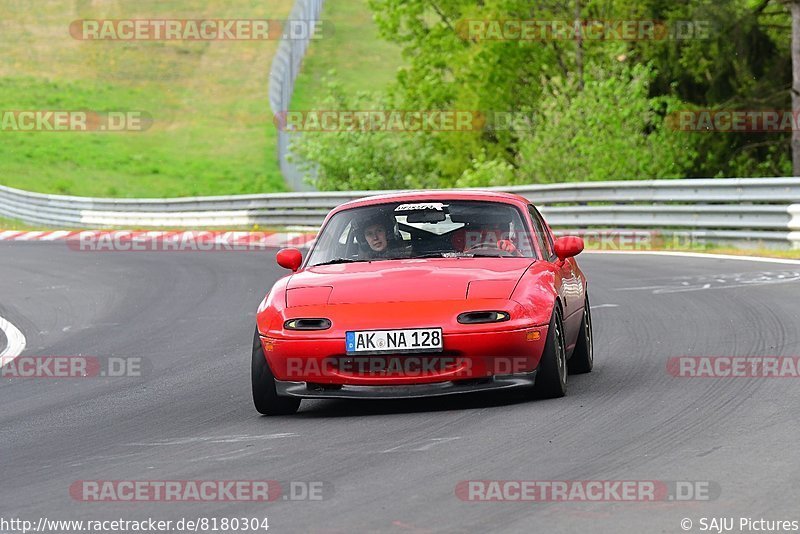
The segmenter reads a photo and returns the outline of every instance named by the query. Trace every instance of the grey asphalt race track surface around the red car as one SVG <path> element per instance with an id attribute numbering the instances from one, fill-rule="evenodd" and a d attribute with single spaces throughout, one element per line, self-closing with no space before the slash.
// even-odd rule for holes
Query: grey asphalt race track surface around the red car
<path id="1" fill-rule="evenodd" d="M 264 517 L 270 532 L 683 532 L 799 520 L 800 381 L 675 378 L 674 356 L 800 355 L 800 266 L 585 255 L 595 371 L 567 397 L 252 407 L 272 253 L 85 253 L 0 244 L 23 355 L 141 357 L 143 378 L 0 380 L 0 517 Z M 763 273 L 771 274 L 763 274 Z M 793 274 L 794 273 L 794 274 Z M 796 275 L 796 276 L 795 276 Z M 5 342 L 0 337 L 0 342 Z M 0 350 L 2 347 L 0 347 Z M 322 501 L 87 503 L 77 480 L 321 481 Z M 711 501 L 464 502 L 464 480 L 711 481 Z M 738 521 L 738 519 L 737 519 Z"/>

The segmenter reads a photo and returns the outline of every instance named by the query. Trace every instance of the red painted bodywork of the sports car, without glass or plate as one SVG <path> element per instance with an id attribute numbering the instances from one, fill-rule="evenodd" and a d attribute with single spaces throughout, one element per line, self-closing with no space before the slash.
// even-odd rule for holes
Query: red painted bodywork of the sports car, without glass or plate
<path id="1" fill-rule="evenodd" d="M 532 224 L 530 203 L 525 198 L 479 191 L 370 197 L 339 206 L 325 224 L 335 213 L 355 207 L 436 200 L 511 204 L 529 228 Z M 563 311 L 567 350 L 573 350 L 586 292 L 585 277 L 574 258 L 557 260 L 552 251 L 538 250 L 538 244 L 536 249 L 539 258 L 550 257 L 399 259 L 303 267 L 276 282 L 259 306 L 257 328 L 269 367 L 277 381 L 308 385 L 308 392 L 297 386 L 293 395 L 311 397 L 315 396 L 312 386 L 318 385 L 459 383 L 535 372 L 555 305 Z M 460 313 L 479 310 L 508 312 L 510 319 L 491 324 L 457 321 Z M 286 321 L 299 318 L 326 318 L 331 327 L 324 331 L 284 328 Z M 373 372 L 351 365 L 354 356 L 345 350 L 347 331 L 434 327 L 442 329 L 442 352 L 402 358 L 404 363 L 409 356 L 439 358 L 425 372 L 403 368 L 403 372 L 387 373 L 385 365 Z M 372 355 L 369 359 L 393 357 Z M 336 395 L 335 389 L 328 393 L 326 396 L 347 396 Z"/>

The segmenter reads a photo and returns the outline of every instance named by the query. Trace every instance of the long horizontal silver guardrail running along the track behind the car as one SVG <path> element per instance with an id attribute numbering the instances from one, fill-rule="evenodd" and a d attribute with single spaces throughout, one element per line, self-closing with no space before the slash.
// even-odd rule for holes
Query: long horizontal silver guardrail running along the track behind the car
<path id="1" fill-rule="evenodd" d="M 800 178 L 587 182 L 490 188 L 520 194 L 557 229 L 698 232 L 709 241 L 800 248 Z M 0 216 L 62 228 L 318 227 L 334 207 L 381 191 L 109 199 L 0 186 Z"/>

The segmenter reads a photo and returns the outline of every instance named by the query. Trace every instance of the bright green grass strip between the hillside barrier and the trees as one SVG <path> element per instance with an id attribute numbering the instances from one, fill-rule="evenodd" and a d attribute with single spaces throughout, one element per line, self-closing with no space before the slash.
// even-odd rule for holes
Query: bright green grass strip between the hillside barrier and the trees
<path id="1" fill-rule="evenodd" d="M 348 91 L 376 91 L 394 80 L 402 65 L 400 48 L 382 40 L 367 0 L 331 0 L 322 17 L 333 26 L 332 35 L 311 43 L 297 78 L 291 109 L 321 109 L 325 78 Z M 324 30 L 324 26 L 323 26 Z M 331 76 L 330 71 L 335 71 Z"/>

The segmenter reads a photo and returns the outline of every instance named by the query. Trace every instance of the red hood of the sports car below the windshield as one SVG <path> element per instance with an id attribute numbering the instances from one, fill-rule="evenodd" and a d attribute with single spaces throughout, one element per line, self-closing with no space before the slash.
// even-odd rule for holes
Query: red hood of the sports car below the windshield
<path id="1" fill-rule="evenodd" d="M 530 258 L 434 258 L 311 267 L 291 277 L 286 304 L 508 299 Z"/>

